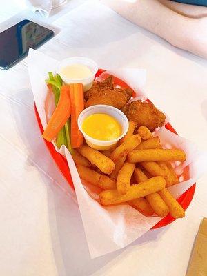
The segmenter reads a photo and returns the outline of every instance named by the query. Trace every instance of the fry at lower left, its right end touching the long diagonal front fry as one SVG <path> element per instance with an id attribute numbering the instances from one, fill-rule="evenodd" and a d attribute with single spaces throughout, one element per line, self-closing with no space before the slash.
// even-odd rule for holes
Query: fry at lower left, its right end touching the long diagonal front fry
<path id="1" fill-rule="evenodd" d="M 77 171 L 79 172 L 79 176 L 90 182 L 95 186 L 99 186 L 103 190 L 112 190 L 116 188 L 116 181 L 110 179 L 106 175 L 100 175 L 99 172 L 95 172 L 95 170 L 91 170 L 88 167 L 77 165 Z"/>

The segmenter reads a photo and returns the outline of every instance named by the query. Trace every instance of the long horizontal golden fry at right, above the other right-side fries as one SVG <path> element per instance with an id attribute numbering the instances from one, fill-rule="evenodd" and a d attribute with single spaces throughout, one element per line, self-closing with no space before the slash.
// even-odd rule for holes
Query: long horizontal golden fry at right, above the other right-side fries
<path id="1" fill-rule="evenodd" d="M 163 150 L 161 148 L 149 150 L 132 150 L 127 157 L 130 163 L 144 161 L 185 161 L 186 154 L 182 150 Z"/>

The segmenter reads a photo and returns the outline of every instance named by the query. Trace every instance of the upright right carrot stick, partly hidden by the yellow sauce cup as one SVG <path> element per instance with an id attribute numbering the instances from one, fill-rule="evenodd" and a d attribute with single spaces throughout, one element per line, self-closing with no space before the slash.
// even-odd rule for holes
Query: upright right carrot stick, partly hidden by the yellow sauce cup
<path id="1" fill-rule="evenodd" d="M 84 109 L 82 83 L 70 84 L 71 102 L 71 144 L 72 148 L 79 148 L 83 144 L 83 135 L 77 125 L 77 119 Z"/>

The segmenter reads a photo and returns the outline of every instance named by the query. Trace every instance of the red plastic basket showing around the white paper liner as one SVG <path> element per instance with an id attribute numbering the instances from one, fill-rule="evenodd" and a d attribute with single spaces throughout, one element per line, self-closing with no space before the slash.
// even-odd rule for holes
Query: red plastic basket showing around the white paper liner
<path id="1" fill-rule="evenodd" d="M 99 77 L 99 75 L 101 75 L 101 73 L 105 72 L 105 70 L 103 69 L 99 69 L 96 77 Z M 129 87 L 124 81 L 122 81 L 121 79 L 118 79 L 117 77 L 114 78 L 114 81 L 117 85 L 121 86 L 121 87 Z M 37 117 L 37 122 L 39 124 L 39 128 L 41 130 L 41 134 L 43 133 L 43 126 L 41 124 L 41 120 L 39 118 L 39 114 L 37 111 L 37 108 L 34 104 L 34 112 L 35 115 Z M 171 132 L 177 134 L 177 132 L 175 131 L 174 128 L 172 128 L 172 126 L 168 123 L 165 126 L 168 130 L 170 130 Z M 52 155 L 52 158 L 54 159 L 55 163 L 57 164 L 57 166 L 59 167 L 59 170 L 61 171 L 61 173 L 63 174 L 63 176 L 66 178 L 66 180 L 68 181 L 68 184 L 71 186 L 71 188 L 74 190 L 74 186 L 72 183 L 72 177 L 70 175 L 70 169 L 68 167 L 68 163 L 66 161 L 66 159 L 60 154 L 58 153 L 54 146 L 52 145 L 52 143 L 44 140 L 46 143 L 46 146 L 48 148 L 48 150 L 50 151 L 50 154 Z M 179 199 L 177 199 L 177 201 L 179 202 L 179 204 L 181 204 L 181 206 L 184 208 L 184 210 L 186 210 L 188 208 L 188 206 L 190 205 L 190 202 L 193 199 L 193 195 L 195 193 L 195 184 L 193 184 L 193 186 L 191 186 L 188 190 L 186 190 L 185 193 L 183 193 Z M 170 223 L 172 223 L 172 221 L 175 221 L 175 219 L 173 217 L 171 217 L 170 215 L 167 215 L 166 217 L 164 217 L 163 219 L 161 219 L 161 221 L 159 221 L 157 224 L 155 224 L 155 226 L 153 226 L 151 229 L 157 229 L 157 228 L 161 228 L 163 226 L 166 226 Z"/>

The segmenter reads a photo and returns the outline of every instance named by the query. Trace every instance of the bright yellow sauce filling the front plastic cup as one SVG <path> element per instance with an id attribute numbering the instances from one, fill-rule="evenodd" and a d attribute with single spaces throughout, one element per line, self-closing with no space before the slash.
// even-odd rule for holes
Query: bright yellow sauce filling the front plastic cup
<path id="1" fill-rule="evenodd" d="M 103 113 L 92 114 L 84 119 L 82 129 L 88 136 L 101 141 L 114 140 L 122 132 L 117 119 Z"/>

